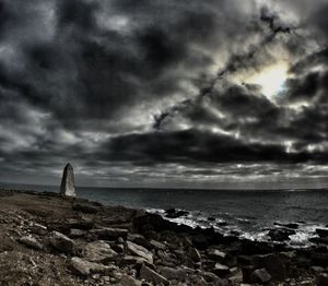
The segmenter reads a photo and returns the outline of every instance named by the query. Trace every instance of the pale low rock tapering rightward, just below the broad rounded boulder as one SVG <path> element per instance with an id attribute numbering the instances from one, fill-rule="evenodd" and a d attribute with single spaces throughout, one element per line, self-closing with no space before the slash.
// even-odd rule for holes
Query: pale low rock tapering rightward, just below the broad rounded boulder
<path id="1" fill-rule="evenodd" d="M 71 269 L 75 274 L 87 276 L 92 273 L 105 273 L 106 271 L 113 271 L 115 266 L 105 266 L 103 264 L 89 262 L 80 258 L 71 259 Z"/>

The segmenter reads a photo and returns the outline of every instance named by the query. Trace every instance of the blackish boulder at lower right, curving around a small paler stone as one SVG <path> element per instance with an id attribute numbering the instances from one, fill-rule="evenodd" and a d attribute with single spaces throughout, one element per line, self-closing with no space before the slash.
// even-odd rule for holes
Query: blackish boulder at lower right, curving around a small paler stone
<path id="1" fill-rule="evenodd" d="M 278 254 L 254 255 L 253 265 L 255 269 L 266 269 L 273 281 L 285 278 L 285 266 Z"/>

